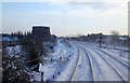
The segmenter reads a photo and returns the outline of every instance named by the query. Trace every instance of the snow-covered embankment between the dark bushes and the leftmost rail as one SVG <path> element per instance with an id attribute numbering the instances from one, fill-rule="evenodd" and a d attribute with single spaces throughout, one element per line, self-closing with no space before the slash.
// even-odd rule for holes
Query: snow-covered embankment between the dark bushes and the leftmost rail
<path id="1" fill-rule="evenodd" d="M 34 72 L 35 81 L 41 81 L 41 72 L 43 81 L 69 81 L 76 66 L 77 53 L 75 45 L 68 47 L 58 40 L 54 53 L 44 58 L 44 64 L 40 64 L 39 72 Z"/>

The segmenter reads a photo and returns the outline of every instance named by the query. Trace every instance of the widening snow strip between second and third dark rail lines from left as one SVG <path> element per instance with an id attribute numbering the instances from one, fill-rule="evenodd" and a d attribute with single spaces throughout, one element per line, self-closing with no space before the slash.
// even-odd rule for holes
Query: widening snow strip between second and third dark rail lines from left
<path id="1" fill-rule="evenodd" d="M 93 81 L 121 81 L 112 67 L 96 53 L 86 49 L 93 65 Z"/>

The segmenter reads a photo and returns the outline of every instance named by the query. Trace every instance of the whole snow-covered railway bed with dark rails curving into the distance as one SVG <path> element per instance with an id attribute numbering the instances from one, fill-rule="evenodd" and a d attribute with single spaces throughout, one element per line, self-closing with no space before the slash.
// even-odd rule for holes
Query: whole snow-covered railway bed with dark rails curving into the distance
<path id="1" fill-rule="evenodd" d="M 94 81 L 116 80 L 121 81 L 121 83 L 128 83 L 126 81 L 126 68 L 130 70 L 130 67 L 121 61 L 121 59 L 117 59 L 100 49 L 89 47 L 89 45 L 84 46 L 80 43 L 72 43 L 70 45 L 75 45 L 76 57 L 73 61 L 74 66 L 68 77 L 68 81 L 87 80 L 90 83 L 93 83 Z"/>

